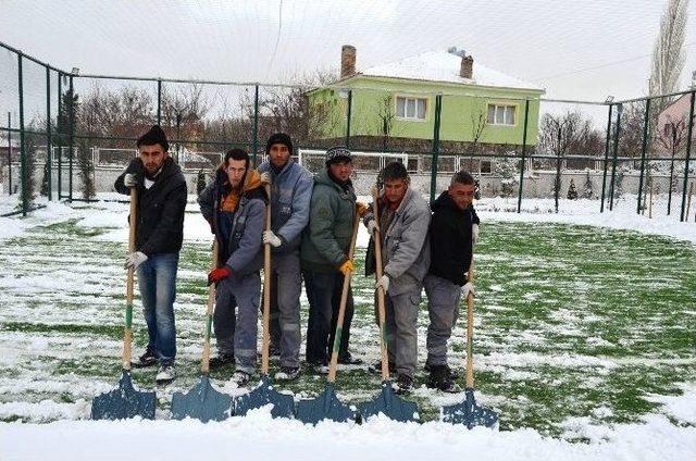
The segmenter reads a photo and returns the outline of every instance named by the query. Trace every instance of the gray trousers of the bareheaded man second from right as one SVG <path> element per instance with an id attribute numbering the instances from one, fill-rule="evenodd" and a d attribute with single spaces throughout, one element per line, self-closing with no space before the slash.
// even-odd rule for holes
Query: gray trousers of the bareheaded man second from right
<path id="1" fill-rule="evenodd" d="M 386 334 L 389 362 L 396 364 L 398 374 L 413 378 L 418 364 L 418 307 L 421 287 L 391 296 L 387 292 Z"/>

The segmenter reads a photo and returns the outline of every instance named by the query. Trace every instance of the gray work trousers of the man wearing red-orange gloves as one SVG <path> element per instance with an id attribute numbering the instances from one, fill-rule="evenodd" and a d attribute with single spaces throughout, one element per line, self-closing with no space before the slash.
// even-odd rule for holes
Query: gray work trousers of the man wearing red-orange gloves
<path id="1" fill-rule="evenodd" d="M 236 369 L 253 373 L 261 276 L 258 272 L 245 276 L 233 274 L 220 281 L 216 288 L 213 325 L 217 350 L 220 353 L 234 353 Z"/>

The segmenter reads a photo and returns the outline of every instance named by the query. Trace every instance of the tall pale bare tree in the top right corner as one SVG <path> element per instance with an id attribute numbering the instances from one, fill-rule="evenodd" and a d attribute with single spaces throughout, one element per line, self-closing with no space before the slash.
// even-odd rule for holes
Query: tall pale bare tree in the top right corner
<path id="1" fill-rule="evenodd" d="M 650 96 L 674 92 L 684 67 L 684 39 L 688 0 L 668 0 L 667 8 L 660 20 L 660 32 L 652 49 L 652 70 L 649 80 Z M 656 101 L 658 113 L 668 104 L 669 100 Z"/>

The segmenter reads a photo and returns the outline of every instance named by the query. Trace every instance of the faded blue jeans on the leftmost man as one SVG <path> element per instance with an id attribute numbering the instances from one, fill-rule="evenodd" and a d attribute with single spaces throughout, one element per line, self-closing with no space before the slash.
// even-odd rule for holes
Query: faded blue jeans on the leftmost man
<path id="1" fill-rule="evenodd" d="M 137 269 L 142 313 L 148 324 L 148 348 L 161 365 L 171 365 L 176 357 L 174 298 L 178 253 L 152 254 Z"/>

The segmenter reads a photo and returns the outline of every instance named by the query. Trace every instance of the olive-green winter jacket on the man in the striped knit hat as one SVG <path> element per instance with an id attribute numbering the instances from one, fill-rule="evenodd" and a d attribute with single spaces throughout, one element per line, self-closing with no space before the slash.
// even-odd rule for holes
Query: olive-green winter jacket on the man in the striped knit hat
<path id="1" fill-rule="evenodd" d="M 303 270 L 331 273 L 348 259 L 356 220 L 356 194 L 336 184 L 324 170 L 314 176 L 309 225 L 302 235 Z"/>

